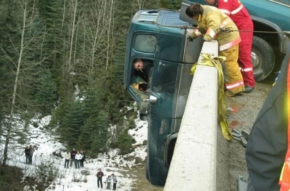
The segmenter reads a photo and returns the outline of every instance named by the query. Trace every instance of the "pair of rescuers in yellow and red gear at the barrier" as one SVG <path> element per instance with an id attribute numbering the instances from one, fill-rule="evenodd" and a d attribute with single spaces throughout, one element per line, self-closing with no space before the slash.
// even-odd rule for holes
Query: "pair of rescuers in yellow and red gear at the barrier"
<path id="1" fill-rule="evenodd" d="M 186 14 L 197 20 L 198 24 L 189 40 L 202 35 L 204 41 L 216 39 L 219 44 L 218 56 L 226 58 L 222 66 L 225 95 L 250 93 L 255 88 L 251 60 L 252 19 L 239 0 L 204 1 L 209 5 L 196 3 L 186 9 Z"/>

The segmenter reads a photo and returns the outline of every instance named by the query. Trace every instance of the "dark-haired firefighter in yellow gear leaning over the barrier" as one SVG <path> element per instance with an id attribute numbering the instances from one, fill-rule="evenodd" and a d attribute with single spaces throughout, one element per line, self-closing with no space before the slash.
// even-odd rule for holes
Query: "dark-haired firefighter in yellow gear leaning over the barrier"
<path id="1" fill-rule="evenodd" d="M 239 66 L 238 49 L 241 38 L 239 32 L 222 32 L 220 30 L 228 28 L 237 30 L 234 22 L 217 7 L 209 5 L 200 5 L 199 3 L 192 4 L 187 7 L 185 13 L 197 20 L 198 28 L 191 33 L 189 40 L 192 41 L 204 34 L 205 41 L 217 39 L 218 56 L 224 56 L 226 61 L 222 64 L 224 75 L 224 94 L 226 96 L 239 95 L 244 92 L 244 82 Z"/>

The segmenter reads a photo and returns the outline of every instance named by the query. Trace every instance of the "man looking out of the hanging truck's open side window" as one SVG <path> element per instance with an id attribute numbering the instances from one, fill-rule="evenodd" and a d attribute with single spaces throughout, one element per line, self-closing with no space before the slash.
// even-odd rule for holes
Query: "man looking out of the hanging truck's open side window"
<path id="1" fill-rule="evenodd" d="M 136 58 L 133 60 L 133 68 L 135 70 L 135 77 L 133 80 L 134 85 L 132 86 L 138 90 L 148 92 L 150 90 L 149 81 L 153 68 L 152 61 Z"/>

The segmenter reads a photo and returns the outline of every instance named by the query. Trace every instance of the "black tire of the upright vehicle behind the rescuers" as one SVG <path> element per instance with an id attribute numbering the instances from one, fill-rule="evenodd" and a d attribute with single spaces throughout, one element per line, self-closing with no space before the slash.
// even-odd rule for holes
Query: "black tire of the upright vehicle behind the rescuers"
<path id="1" fill-rule="evenodd" d="M 256 82 L 267 78 L 275 66 L 275 54 L 271 45 L 263 38 L 254 36 L 251 53 Z"/>

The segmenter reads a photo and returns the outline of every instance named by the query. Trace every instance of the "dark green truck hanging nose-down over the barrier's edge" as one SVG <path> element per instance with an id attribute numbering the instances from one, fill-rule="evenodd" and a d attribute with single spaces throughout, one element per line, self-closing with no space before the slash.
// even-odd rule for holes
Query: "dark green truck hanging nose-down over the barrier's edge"
<path id="1" fill-rule="evenodd" d="M 140 106 L 140 118 L 148 120 L 146 177 L 164 186 L 193 76 L 201 38 L 189 42 L 190 23 L 179 11 L 140 10 L 132 18 L 126 47 L 124 84 Z M 187 27 L 184 27 L 187 26 Z M 142 60 L 145 71 L 134 69 Z"/>

